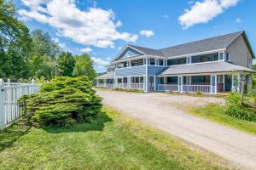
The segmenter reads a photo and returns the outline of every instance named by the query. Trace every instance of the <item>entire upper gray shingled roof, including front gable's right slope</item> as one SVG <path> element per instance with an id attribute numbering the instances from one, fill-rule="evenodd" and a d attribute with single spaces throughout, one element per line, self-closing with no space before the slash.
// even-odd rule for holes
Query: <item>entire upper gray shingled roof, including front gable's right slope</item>
<path id="1" fill-rule="evenodd" d="M 143 48 L 143 47 L 134 46 L 134 45 L 128 45 L 128 46 L 131 46 L 132 48 L 136 48 L 137 50 L 143 52 L 144 54 L 157 55 L 157 56 L 163 56 L 163 57 L 174 57 L 179 55 L 195 54 L 195 53 L 201 53 L 206 51 L 212 51 L 216 49 L 228 48 L 230 44 L 234 42 L 236 38 L 241 35 L 244 37 L 245 41 L 247 42 L 247 46 L 251 54 L 253 55 L 253 58 L 255 58 L 253 54 L 253 49 L 251 48 L 250 43 L 247 40 L 245 31 L 237 31 L 237 32 L 225 34 L 218 37 L 210 37 L 210 38 L 195 41 L 195 42 L 183 43 L 180 45 L 172 46 L 170 48 L 152 49 L 152 48 Z"/>

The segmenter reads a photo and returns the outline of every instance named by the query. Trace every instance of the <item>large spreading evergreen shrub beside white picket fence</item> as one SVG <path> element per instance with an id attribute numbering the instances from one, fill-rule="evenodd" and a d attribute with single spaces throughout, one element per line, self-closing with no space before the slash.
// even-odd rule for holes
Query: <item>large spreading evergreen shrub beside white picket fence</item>
<path id="1" fill-rule="evenodd" d="M 24 96 L 22 116 L 32 126 L 67 126 L 90 122 L 101 110 L 101 98 L 87 77 L 56 77 L 40 93 Z"/>

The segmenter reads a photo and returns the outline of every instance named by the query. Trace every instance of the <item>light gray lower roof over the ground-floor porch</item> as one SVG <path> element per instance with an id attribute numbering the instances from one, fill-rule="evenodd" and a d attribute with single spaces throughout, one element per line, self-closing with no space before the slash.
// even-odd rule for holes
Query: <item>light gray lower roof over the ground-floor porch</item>
<path id="1" fill-rule="evenodd" d="M 225 61 L 201 63 L 197 65 L 173 65 L 159 75 L 181 75 L 212 72 L 247 71 L 256 72 L 241 65 L 234 65 Z"/>

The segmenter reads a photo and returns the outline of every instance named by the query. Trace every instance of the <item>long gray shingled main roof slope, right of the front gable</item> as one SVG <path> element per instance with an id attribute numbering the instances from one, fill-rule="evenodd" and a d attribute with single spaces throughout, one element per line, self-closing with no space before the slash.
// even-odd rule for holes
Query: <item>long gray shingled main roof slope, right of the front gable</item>
<path id="1" fill-rule="evenodd" d="M 238 31 L 230 34 L 225 34 L 218 37 L 211 37 L 200 41 L 184 43 L 170 48 L 162 48 L 161 52 L 166 54 L 166 57 L 174 57 L 185 54 L 195 54 L 215 49 L 228 48 L 232 42 L 236 40 L 244 31 Z"/>

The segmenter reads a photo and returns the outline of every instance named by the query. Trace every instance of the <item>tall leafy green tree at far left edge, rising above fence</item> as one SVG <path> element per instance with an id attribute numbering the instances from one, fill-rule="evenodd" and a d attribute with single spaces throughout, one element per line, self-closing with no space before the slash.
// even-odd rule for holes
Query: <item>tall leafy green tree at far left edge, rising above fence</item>
<path id="1" fill-rule="evenodd" d="M 0 77 L 29 77 L 30 49 L 29 30 L 17 20 L 15 5 L 0 0 Z"/>

